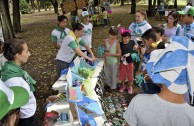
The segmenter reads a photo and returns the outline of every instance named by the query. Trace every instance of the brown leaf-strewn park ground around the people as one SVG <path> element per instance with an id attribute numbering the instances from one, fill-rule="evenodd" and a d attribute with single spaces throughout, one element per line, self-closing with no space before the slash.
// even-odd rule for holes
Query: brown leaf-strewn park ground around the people
<path id="1" fill-rule="evenodd" d="M 93 29 L 93 51 L 103 44 L 103 39 L 108 36 L 110 26 L 121 24 L 128 28 L 134 21 L 134 15 L 130 14 L 130 6 L 113 6 L 109 27 L 97 26 Z M 147 9 L 146 5 L 137 5 L 137 9 Z M 79 12 L 80 13 L 80 12 Z M 69 16 L 69 14 L 67 14 Z M 57 50 L 51 42 L 51 32 L 57 23 L 57 15 L 53 11 L 38 12 L 21 16 L 22 32 L 17 34 L 18 38 L 25 40 L 29 46 L 31 57 L 23 68 L 37 81 L 35 96 L 37 99 L 37 111 L 35 114 L 37 126 L 42 126 L 44 118 L 45 99 L 57 94 L 51 87 L 56 81 L 55 56 Z M 148 18 L 149 23 L 154 26 L 165 23 L 159 16 Z M 118 38 L 120 39 L 120 37 Z M 135 88 L 135 94 L 137 93 Z M 114 94 L 111 94 L 114 95 Z M 124 94 L 125 95 L 125 94 Z M 129 102 L 134 95 L 125 95 Z"/>

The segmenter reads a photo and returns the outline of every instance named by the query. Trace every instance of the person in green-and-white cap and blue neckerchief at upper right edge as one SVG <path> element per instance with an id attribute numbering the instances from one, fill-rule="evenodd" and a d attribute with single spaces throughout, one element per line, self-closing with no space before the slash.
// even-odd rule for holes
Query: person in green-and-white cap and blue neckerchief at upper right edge
<path id="1" fill-rule="evenodd" d="M 184 24 L 180 36 L 187 36 L 194 41 L 194 7 L 186 6 L 182 11 L 178 11 L 178 14 Z"/>

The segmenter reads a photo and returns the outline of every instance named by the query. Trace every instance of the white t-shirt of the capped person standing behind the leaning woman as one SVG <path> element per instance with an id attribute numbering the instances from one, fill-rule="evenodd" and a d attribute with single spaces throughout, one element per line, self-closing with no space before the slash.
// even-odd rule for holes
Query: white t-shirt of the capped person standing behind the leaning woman
<path id="1" fill-rule="evenodd" d="M 92 48 L 92 24 L 89 23 L 87 25 L 83 24 L 84 26 L 84 34 L 82 35 L 82 39 Z M 86 50 L 85 47 L 80 46 L 81 50 Z"/>

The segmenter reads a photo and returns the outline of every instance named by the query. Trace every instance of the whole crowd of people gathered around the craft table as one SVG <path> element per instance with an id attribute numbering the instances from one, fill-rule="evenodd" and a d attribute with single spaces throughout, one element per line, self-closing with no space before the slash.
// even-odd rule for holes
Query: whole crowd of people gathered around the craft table
<path id="1" fill-rule="evenodd" d="M 96 60 L 92 51 L 93 25 L 87 10 L 82 12 L 82 18 L 83 22 L 73 24 L 70 30 L 68 18 L 60 15 L 51 33 L 53 46 L 58 51 L 58 77 L 62 70 L 70 67 L 75 55 L 90 62 Z M 127 93 L 132 94 L 134 77 L 143 77 L 140 84 L 143 94 L 135 96 L 123 114 L 126 126 L 193 126 L 194 7 L 185 6 L 181 11 L 170 12 L 166 23 L 154 27 L 149 24 L 146 12 L 137 10 L 129 28 L 111 26 L 108 33 L 102 42 L 106 89 L 114 91 L 119 87 L 119 92 L 127 89 Z M 30 56 L 28 46 L 24 41 L 11 39 L 1 47 L 7 61 L 1 63 L 0 99 L 6 104 L 0 103 L 3 110 L 0 110 L 0 125 L 10 122 L 9 110 L 14 109 L 11 114 L 18 115 L 16 108 L 19 108 L 18 125 L 34 126 L 36 81 L 21 68 Z M 140 62 L 134 62 L 133 56 Z M 121 80 L 120 86 L 117 78 Z M 18 100 L 18 96 L 24 97 L 21 97 L 23 100 Z"/>

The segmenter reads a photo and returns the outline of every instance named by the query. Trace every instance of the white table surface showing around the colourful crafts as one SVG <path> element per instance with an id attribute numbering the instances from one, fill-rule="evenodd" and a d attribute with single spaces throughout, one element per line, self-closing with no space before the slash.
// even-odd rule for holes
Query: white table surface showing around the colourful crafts
<path id="1" fill-rule="evenodd" d="M 100 107 L 101 106 L 101 103 L 100 103 L 100 100 L 98 98 L 98 95 L 96 94 L 96 92 L 94 91 L 95 87 L 96 87 L 96 84 L 98 82 L 98 76 L 99 74 L 101 73 L 101 71 L 103 70 L 103 66 L 104 66 L 104 59 L 103 58 L 99 58 L 97 59 L 97 61 L 99 62 L 96 66 L 96 69 L 95 69 L 95 72 L 94 72 L 94 75 L 93 75 L 93 78 L 92 78 L 92 99 L 93 100 L 96 100 L 99 104 Z M 58 91 L 59 93 L 63 93 L 63 92 L 66 92 L 66 86 L 67 86 L 67 80 L 66 80 L 66 75 L 62 75 L 55 83 L 54 85 L 52 86 L 52 89 L 55 90 L 55 91 Z M 59 103 L 55 103 L 54 105 L 48 107 L 47 111 L 57 111 L 59 114 L 61 112 L 69 112 L 69 115 L 70 115 L 70 122 L 69 123 L 62 123 L 60 121 L 57 121 L 54 126 L 79 126 L 79 121 L 78 120 L 73 120 L 73 116 L 72 116 L 72 113 L 70 111 L 70 106 L 69 106 L 69 103 L 66 101 L 66 102 L 59 102 Z M 96 120 L 96 123 L 97 123 L 97 126 L 104 126 L 104 121 L 106 121 L 106 116 L 105 114 L 102 115 L 102 116 L 96 116 L 94 118 Z"/>

